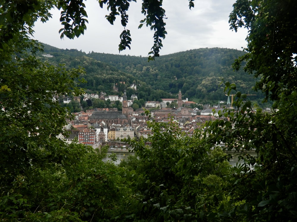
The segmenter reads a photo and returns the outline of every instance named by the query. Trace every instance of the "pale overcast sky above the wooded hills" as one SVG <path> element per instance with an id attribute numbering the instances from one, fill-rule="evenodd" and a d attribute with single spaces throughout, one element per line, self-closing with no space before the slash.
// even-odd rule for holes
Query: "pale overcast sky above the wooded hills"
<path id="1" fill-rule="evenodd" d="M 61 40 L 60 12 L 53 9 L 50 11 L 52 18 L 48 22 L 35 23 L 33 38 L 59 49 L 146 57 L 153 46 L 154 32 L 146 25 L 138 29 L 140 20 L 145 18 L 141 13 L 141 2 L 131 1 L 127 13 L 129 21 L 126 28 L 130 30 L 132 38 L 131 50 L 127 48 L 119 53 L 119 36 L 124 30 L 121 19 L 117 17 L 114 25 L 110 25 L 105 19 L 105 15 L 109 14 L 106 5 L 102 9 L 96 0 L 84 1 L 89 23 L 83 36 L 75 39 L 64 37 Z M 167 17 L 165 29 L 168 34 L 162 40 L 160 55 L 206 47 L 242 50 L 247 45 L 247 30 L 241 28 L 236 33 L 229 29 L 228 24 L 234 2 L 235 0 L 196 0 L 195 7 L 190 10 L 188 0 L 164 0 L 163 8 Z"/>

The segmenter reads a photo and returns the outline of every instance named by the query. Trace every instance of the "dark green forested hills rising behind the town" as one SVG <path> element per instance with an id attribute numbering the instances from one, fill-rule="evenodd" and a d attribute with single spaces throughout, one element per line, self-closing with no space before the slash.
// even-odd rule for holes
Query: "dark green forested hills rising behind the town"
<path id="1" fill-rule="evenodd" d="M 255 79 L 243 70 L 234 71 L 234 59 L 244 52 L 235 49 L 203 48 L 164 55 L 148 62 L 146 57 L 114 55 L 91 52 L 86 54 L 76 49 L 57 49 L 45 45 L 47 58 L 54 63 L 65 63 L 68 67 L 83 66 L 88 83 L 82 86 L 92 92 L 112 93 L 113 83 L 120 91 L 137 83 L 138 90 L 127 90 L 127 96 L 137 94 L 139 99 L 157 100 L 174 97 L 181 90 L 183 98 L 197 102 L 226 100 L 224 81 L 236 83 L 242 93 L 255 94 L 252 87 Z M 125 82 L 122 85 L 120 82 Z M 262 95 L 251 99 L 260 101 Z"/>

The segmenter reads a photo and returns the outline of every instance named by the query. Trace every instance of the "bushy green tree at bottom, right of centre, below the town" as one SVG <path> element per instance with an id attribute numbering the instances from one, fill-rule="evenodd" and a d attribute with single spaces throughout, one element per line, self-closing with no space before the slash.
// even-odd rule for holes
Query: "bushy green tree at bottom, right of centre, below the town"
<path id="1" fill-rule="evenodd" d="M 219 212 L 216 197 L 227 203 L 235 182 L 228 155 L 220 148 L 211 151 L 212 144 L 205 144 L 199 132 L 184 136 L 173 121 L 152 120 L 148 127 L 151 147 L 142 139 L 131 141 L 135 157 L 120 164 L 137 194 L 123 207 L 125 212 L 134 215 L 133 221 L 214 221 L 212 215 Z"/>

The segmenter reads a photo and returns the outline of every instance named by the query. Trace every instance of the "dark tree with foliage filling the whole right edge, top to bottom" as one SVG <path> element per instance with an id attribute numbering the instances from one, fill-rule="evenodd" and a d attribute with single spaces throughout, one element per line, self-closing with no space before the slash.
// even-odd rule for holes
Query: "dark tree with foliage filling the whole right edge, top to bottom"
<path id="1" fill-rule="evenodd" d="M 244 69 L 260 77 L 255 89 L 274 102 L 272 113 L 263 113 L 236 91 L 235 84 L 225 83 L 228 94 L 236 91 L 235 113 L 221 116 L 229 121 L 209 122 L 206 135 L 209 143 L 225 143 L 227 149 L 236 149 L 244 160 L 238 173 L 237 188 L 231 193 L 233 200 L 245 203 L 234 207 L 235 215 L 245 221 L 294 221 L 296 209 L 296 49 L 297 35 L 295 1 L 238 0 L 230 14 L 230 26 L 249 29 L 247 54 L 238 59 Z M 231 124 L 232 123 L 232 124 Z M 256 156 L 247 155 L 254 150 Z M 253 170 L 251 170 L 253 166 Z M 246 192 L 242 192 L 245 190 Z M 229 213 L 231 213 L 231 211 Z"/>

